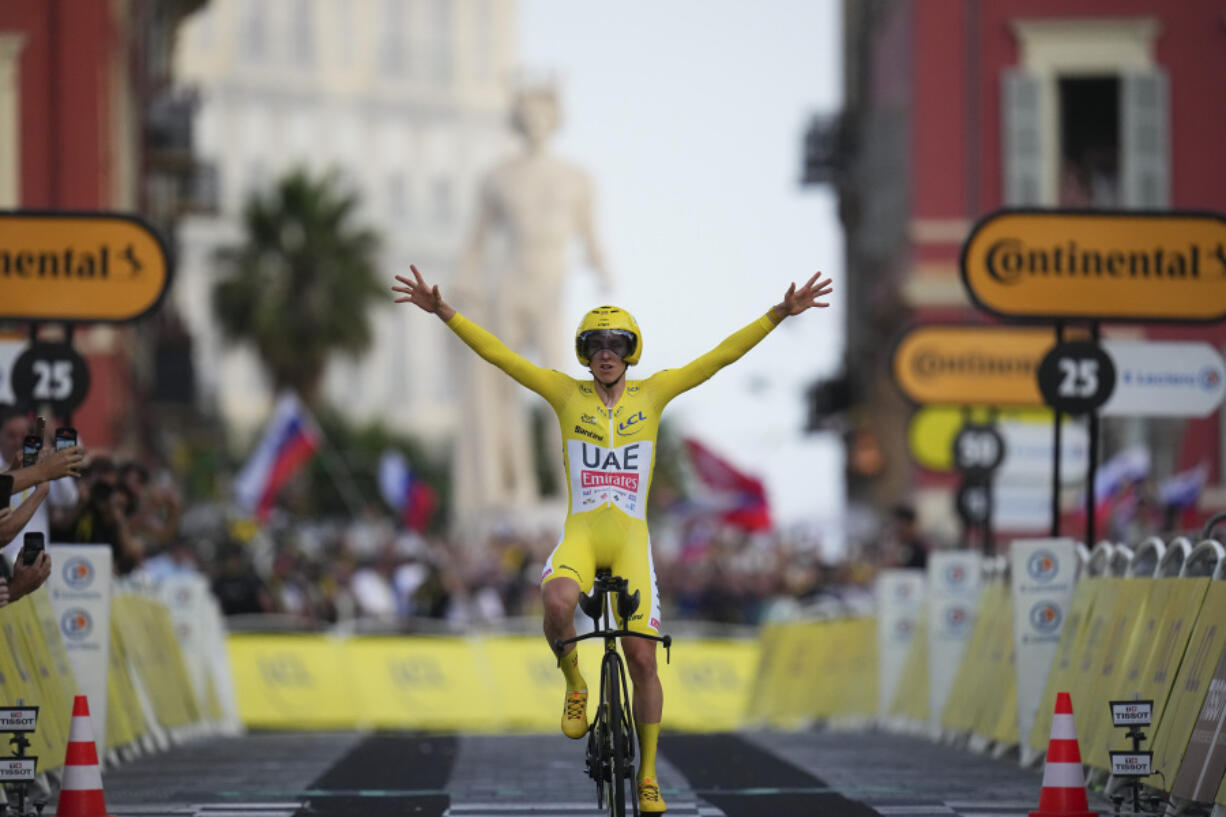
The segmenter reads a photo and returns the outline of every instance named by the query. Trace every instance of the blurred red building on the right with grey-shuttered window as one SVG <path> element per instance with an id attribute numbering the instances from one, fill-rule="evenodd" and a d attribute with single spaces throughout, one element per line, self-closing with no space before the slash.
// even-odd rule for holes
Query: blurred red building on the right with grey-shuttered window
<path id="1" fill-rule="evenodd" d="M 814 121 L 805 180 L 839 191 L 847 357 L 843 377 L 815 384 L 810 424 L 843 431 L 852 504 L 915 499 L 926 526 L 951 531 L 955 475 L 907 456 L 912 408 L 890 377 L 900 329 L 989 320 L 967 301 L 959 250 L 998 207 L 1226 210 L 1216 156 L 1226 139 L 1226 7 L 850 0 L 842 9 L 845 108 Z M 1110 326 L 1105 336 L 1226 346 L 1221 324 Z M 1192 525 L 1226 501 L 1222 428 L 1221 411 L 1110 418 L 1102 459 L 1143 444 L 1150 486 L 1201 467 L 1206 485 L 1181 518 Z M 1064 497 L 1072 516 L 1078 492 Z"/>

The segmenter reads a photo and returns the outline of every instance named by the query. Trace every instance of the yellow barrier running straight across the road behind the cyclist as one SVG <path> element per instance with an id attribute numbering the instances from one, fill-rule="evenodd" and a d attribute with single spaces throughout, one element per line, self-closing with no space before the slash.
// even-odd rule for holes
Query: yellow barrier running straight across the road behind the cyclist
<path id="1" fill-rule="evenodd" d="M 235 634 L 228 639 L 239 715 L 276 729 L 553 731 L 562 673 L 542 637 L 356 637 Z M 602 645 L 579 645 L 596 693 Z M 754 642 L 678 642 L 658 655 L 669 729 L 731 730 L 745 723 L 758 666 Z"/>

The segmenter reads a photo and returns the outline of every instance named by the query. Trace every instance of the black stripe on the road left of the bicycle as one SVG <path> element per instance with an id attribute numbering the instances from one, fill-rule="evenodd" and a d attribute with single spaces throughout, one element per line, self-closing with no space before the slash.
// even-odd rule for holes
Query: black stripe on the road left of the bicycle
<path id="1" fill-rule="evenodd" d="M 444 789 L 456 745 L 455 735 L 373 735 L 310 785 L 298 817 L 441 817 L 451 802 Z M 337 794 L 319 794 L 329 790 Z M 419 794 L 400 794 L 406 790 Z"/>

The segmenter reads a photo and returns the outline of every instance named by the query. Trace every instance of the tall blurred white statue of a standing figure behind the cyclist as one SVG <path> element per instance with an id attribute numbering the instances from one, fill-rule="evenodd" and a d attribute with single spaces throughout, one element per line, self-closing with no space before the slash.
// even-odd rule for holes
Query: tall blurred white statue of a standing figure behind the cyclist
<path id="1" fill-rule="evenodd" d="M 482 180 L 476 223 L 457 275 L 465 310 L 515 351 L 557 369 L 571 358 L 573 328 L 563 324 L 563 296 L 575 239 L 602 292 L 611 287 L 592 224 L 592 183 L 579 167 L 547 150 L 560 119 L 552 86 L 516 93 L 511 124 L 525 150 Z M 503 251 L 487 258 L 492 244 Z M 483 361 L 466 359 L 466 366 L 454 496 L 461 525 L 472 530 L 463 516 L 500 512 L 515 516 L 536 505 L 541 492 L 530 408 L 520 390 Z M 547 429 L 546 439 L 553 437 Z M 557 489 L 565 496 L 560 451 L 553 470 Z"/>

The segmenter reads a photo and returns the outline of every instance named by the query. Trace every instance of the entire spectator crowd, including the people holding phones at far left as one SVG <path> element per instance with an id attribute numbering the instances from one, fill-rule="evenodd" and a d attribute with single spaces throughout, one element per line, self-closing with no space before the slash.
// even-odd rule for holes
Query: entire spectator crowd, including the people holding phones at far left
<path id="1" fill-rule="evenodd" d="M 227 616 L 264 622 L 251 626 L 465 631 L 539 622 L 541 567 L 555 530 L 425 536 L 381 505 L 356 519 L 278 514 L 255 526 L 218 505 L 185 509 L 169 471 L 151 474 L 132 460 L 55 451 L 48 440 L 37 465 L 20 469 L 22 439 L 33 429 L 28 415 L 0 407 L 0 470 L 26 475 L 12 507 L 0 510 L 7 557 L 0 572 L 15 564 L 18 577 L 0 586 L 0 601 L 47 579 L 45 554 L 34 569 L 18 557 L 25 534 L 40 531 L 48 542 L 108 546 L 119 577 L 195 570 Z M 668 519 L 653 527 L 653 542 L 667 619 L 753 626 L 855 601 L 868 580 L 824 564 L 812 543 L 709 518 Z"/>

